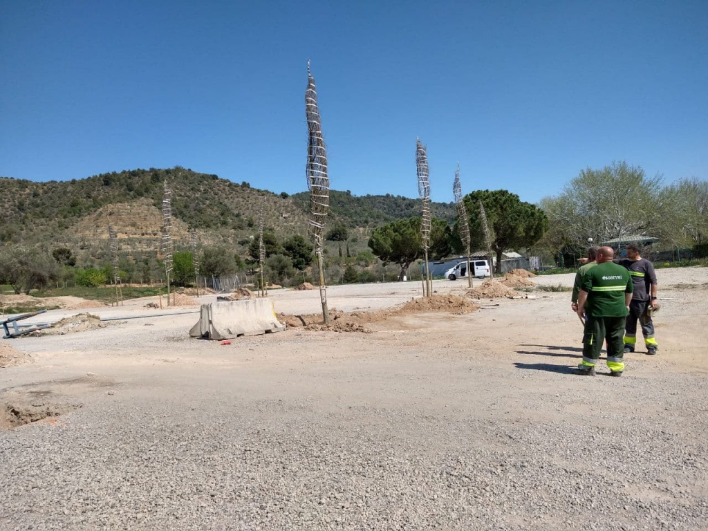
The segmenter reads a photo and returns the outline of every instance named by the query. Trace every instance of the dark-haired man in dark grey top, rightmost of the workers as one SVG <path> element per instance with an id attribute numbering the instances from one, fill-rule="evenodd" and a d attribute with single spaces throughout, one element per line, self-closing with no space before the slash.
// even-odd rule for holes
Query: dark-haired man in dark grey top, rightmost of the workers
<path id="1" fill-rule="evenodd" d="M 634 244 L 627 246 L 627 258 L 616 260 L 615 263 L 623 265 L 629 271 L 634 281 L 634 296 L 629 304 L 629 316 L 627 316 L 627 326 L 624 330 L 624 352 L 634 352 L 636 346 L 636 321 L 639 319 L 641 333 L 644 335 L 644 345 L 646 353 L 656 354 L 658 344 L 654 337 L 654 324 L 646 312 L 648 306 L 652 309 L 658 308 L 656 292 L 656 273 L 653 264 L 646 258 L 641 258 L 639 247 Z"/>

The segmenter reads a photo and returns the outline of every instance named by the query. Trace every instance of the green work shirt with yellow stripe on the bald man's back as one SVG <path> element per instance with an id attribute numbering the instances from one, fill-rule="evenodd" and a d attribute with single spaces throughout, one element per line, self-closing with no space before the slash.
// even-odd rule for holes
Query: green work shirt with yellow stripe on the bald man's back
<path id="1" fill-rule="evenodd" d="M 586 312 L 593 317 L 627 316 L 624 294 L 634 291 L 629 272 L 612 262 L 603 262 L 590 268 L 581 284 L 581 290 L 588 292 Z"/>

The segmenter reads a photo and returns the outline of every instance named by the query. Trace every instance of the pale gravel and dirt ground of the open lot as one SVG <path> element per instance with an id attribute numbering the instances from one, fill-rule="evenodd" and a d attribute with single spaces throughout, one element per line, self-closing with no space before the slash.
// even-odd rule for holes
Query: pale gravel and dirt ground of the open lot
<path id="1" fill-rule="evenodd" d="M 621 379 L 573 374 L 582 329 L 569 291 L 471 299 L 467 280 L 433 283 L 449 309 L 411 312 L 390 309 L 421 304 L 419 283 L 329 287 L 334 314 L 357 325 L 348 333 L 317 326 L 319 290 L 270 290 L 283 320 L 305 326 L 222 346 L 188 337 L 198 309 L 139 299 L 91 309 L 112 326 L 0 340 L 29 360 L 13 352 L 0 368 L 13 428 L 0 430 L 0 527 L 706 529 L 708 268 L 657 273 L 659 354 L 640 346 Z M 528 280 L 567 289 L 573 275 Z M 36 422 L 9 416 L 32 404 L 46 412 L 25 414 Z M 140 474 L 120 462 L 155 447 L 160 472 L 102 508 L 104 490 Z M 249 448 L 268 449 L 258 472 L 224 479 Z M 207 508 L 183 498 L 192 486 L 164 498 L 164 474 L 205 484 Z M 484 484 L 479 496 L 465 481 Z M 341 507 L 318 502 L 329 491 Z M 280 508 L 259 496 L 283 496 Z"/>

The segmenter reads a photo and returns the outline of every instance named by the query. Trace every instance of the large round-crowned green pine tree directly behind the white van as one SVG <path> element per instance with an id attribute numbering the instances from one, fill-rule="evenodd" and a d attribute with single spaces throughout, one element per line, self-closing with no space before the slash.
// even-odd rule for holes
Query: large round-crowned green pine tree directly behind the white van
<path id="1" fill-rule="evenodd" d="M 472 246 L 485 249 L 479 202 L 484 205 L 491 232 L 491 247 L 496 253 L 496 272 L 501 272 L 501 253 L 506 249 L 526 249 L 542 238 L 548 228 L 544 212 L 508 190 L 477 190 L 464 197 L 469 215 Z"/>

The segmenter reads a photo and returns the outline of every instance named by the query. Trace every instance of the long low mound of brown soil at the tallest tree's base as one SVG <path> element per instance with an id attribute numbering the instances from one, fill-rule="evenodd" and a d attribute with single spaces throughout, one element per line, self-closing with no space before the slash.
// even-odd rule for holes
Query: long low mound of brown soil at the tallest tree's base
<path id="1" fill-rule="evenodd" d="M 450 312 L 452 314 L 467 314 L 479 309 L 465 297 L 459 295 L 433 295 L 413 299 L 399 307 L 379 310 L 377 312 L 338 312 L 336 308 L 329 311 L 329 324 L 322 322 L 322 314 L 288 315 L 278 314 L 278 320 L 293 328 L 303 328 L 312 331 L 364 332 L 370 333 L 365 324 L 377 323 L 399 315 L 422 314 L 430 312 Z"/>

